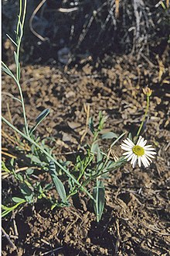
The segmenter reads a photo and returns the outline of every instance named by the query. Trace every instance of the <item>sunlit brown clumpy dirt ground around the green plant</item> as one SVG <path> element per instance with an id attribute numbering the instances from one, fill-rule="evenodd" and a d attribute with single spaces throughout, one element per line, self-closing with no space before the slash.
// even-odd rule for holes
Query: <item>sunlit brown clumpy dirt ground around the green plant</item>
<path id="1" fill-rule="evenodd" d="M 143 135 L 154 144 L 157 157 L 149 168 L 132 170 L 130 164 L 110 173 L 105 181 L 106 206 L 96 222 L 88 199 L 79 195 L 72 206 L 50 210 L 46 202 L 26 205 L 6 217 L 2 227 L 15 247 L 2 237 L 2 255 L 169 255 L 169 84 L 168 50 L 154 60 L 135 57 L 105 57 L 93 64 L 89 59 L 79 66 L 58 69 L 28 65 L 22 69 L 22 89 L 26 114 L 32 125 L 45 108 L 50 114 L 39 126 L 42 137 L 54 137 L 56 158 L 73 159 L 86 124 L 84 105 L 97 120 L 99 111 L 107 116 L 105 129 L 121 134 L 135 133 L 145 109 L 142 88 L 153 89 L 151 107 Z M 11 66 L 11 68 L 14 68 Z M 20 129 L 22 116 L 18 89 L 8 76 L 2 81 L 2 110 Z M 7 104 L 8 103 L 8 104 Z M 15 135 L 3 126 L 10 137 Z M 3 135 L 9 154 L 24 157 Z M 87 135 L 87 140 L 88 140 Z M 83 141 L 85 144 L 85 141 Z M 81 147 L 83 147 L 83 144 Z M 121 155 L 119 147 L 115 147 Z M 68 153 L 67 155 L 65 155 Z M 8 161 L 7 156 L 3 156 Z M 26 165 L 20 163 L 19 167 Z M 40 177 L 40 176 L 39 176 Z M 3 180 L 3 200 L 10 194 L 12 178 Z M 14 190 L 17 190 L 16 188 Z"/>

